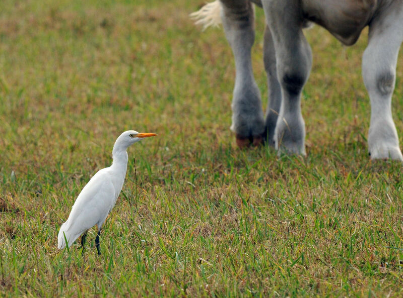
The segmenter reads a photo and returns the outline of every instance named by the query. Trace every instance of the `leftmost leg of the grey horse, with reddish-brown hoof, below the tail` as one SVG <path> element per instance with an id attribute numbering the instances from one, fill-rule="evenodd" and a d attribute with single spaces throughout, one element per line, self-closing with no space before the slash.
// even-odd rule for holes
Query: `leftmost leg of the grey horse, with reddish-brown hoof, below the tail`
<path id="1" fill-rule="evenodd" d="M 235 58 L 235 87 L 232 98 L 231 130 L 240 147 L 262 141 L 264 119 L 260 91 L 252 72 L 254 11 L 248 0 L 221 0 L 225 36 Z"/>

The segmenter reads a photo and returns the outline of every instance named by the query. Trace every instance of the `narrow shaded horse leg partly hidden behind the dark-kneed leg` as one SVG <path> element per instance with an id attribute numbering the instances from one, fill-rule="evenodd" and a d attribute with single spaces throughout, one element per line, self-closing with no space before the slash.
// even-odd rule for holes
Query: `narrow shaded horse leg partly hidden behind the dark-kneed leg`
<path id="1" fill-rule="evenodd" d="M 276 129 L 281 106 L 281 86 L 277 78 L 276 51 L 273 37 L 267 25 L 264 28 L 263 60 L 268 85 L 268 103 L 264 137 L 269 145 L 274 146 L 274 131 Z"/>

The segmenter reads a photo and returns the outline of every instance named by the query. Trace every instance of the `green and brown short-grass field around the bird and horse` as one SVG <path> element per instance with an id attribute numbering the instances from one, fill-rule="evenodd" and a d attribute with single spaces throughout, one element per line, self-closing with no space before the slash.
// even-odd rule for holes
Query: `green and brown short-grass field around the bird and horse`
<path id="1" fill-rule="evenodd" d="M 0 296 L 401 297 L 402 165 L 371 162 L 367 37 L 316 26 L 307 157 L 239 150 L 234 62 L 204 1 L 0 2 Z M 262 96 L 263 15 L 253 63 Z M 393 116 L 403 138 L 403 53 Z M 57 232 L 124 130 L 126 181 L 81 256 Z M 402 144 L 400 143 L 400 147 Z"/>

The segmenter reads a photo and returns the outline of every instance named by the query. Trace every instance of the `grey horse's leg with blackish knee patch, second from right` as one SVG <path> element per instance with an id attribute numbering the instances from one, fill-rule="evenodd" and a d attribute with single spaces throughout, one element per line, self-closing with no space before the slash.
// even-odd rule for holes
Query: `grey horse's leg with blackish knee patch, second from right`
<path id="1" fill-rule="evenodd" d="M 268 27 L 276 52 L 277 77 L 282 91 L 280 113 L 274 134 L 276 149 L 305 155 L 305 123 L 301 92 L 312 66 L 312 52 L 302 32 L 298 0 L 263 0 Z"/>

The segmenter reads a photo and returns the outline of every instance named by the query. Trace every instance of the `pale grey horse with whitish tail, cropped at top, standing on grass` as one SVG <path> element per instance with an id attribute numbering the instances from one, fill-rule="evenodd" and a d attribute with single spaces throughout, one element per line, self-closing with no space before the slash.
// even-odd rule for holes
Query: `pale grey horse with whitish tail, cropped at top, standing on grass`
<path id="1" fill-rule="evenodd" d="M 252 73 L 254 6 L 265 14 L 263 60 L 269 88 L 265 116 Z M 391 113 L 396 63 L 403 41 L 403 0 L 216 0 L 191 15 L 205 27 L 223 24 L 235 57 L 232 126 L 237 144 L 265 139 L 282 151 L 305 155 L 301 92 L 312 65 L 303 34 L 311 22 L 353 45 L 369 27 L 362 75 L 371 102 L 368 132 L 372 159 L 403 160 Z"/>

